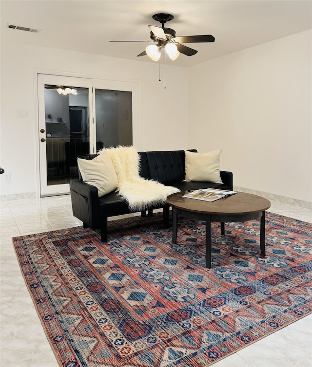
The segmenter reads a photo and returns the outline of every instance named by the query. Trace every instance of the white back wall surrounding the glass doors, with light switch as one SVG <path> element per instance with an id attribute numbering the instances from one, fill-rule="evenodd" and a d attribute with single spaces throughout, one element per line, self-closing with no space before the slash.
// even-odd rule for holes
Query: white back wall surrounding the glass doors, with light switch
<path id="1" fill-rule="evenodd" d="M 2 36 L 2 35 L 1 35 Z M 11 182 L 0 176 L 0 195 L 38 192 L 38 121 L 36 121 L 35 71 L 55 71 L 72 76 L 139 82 L 138 150 L 183 149 L 187 146 L 187 70 L 167 66 L 166 89 L 158 81 L 158 63 L 131 61 L 100 55 L 8 44 L 1 39 L 0 166 Z M 17 118 L 16 110 L 28 110 Z"/>

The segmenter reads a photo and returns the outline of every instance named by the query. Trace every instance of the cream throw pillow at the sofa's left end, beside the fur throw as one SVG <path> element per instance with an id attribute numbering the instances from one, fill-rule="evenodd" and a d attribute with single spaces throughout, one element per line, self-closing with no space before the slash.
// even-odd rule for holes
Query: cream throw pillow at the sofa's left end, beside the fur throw
<path id="1" fill-rule="evenodd" d="M 82 180 L 98 187 L 98 197 L 117 188 L 117 174 L 108 153 L 101 152 L 91 161 L 82 158 L 77 161 Z"/>

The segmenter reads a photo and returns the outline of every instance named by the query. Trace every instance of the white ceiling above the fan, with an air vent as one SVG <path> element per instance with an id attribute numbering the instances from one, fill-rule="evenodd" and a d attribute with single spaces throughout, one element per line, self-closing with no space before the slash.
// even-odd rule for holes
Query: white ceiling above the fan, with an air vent
<path id="1" fill-rule="evenodd" d="M 177 66 L 191 66 L 248 47 L 312 28 L 311 0 L 1 0 L 2 42 L 21 42 L 89 54 L 151 61 L 137 57 L 148 41 L 148 25 L 161 26 L 152 15 L 169 13 L 166 27 L 176 36 L 206 35 L 214 43 L 187 43 L 198 50 L 180 55 Z M 39 29 L 30 33 L 7 24 Z M 163 57 L 163 56 L 162 56 Z"/>

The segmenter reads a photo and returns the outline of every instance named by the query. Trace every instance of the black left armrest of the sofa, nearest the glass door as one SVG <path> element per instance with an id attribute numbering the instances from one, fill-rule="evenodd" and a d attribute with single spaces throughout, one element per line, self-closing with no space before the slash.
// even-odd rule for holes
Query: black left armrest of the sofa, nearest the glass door
<path id="1" fill-rule="evenodd" d="M 73 215 L 84 227 L 99 228 L 98 188 L 77 179 L 69 182 Z"/>

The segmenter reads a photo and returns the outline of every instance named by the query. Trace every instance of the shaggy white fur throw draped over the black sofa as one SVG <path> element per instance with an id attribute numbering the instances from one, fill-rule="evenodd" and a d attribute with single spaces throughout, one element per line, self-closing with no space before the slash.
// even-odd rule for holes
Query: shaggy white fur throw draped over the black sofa
<path id="1" fill-rule="evenodd" d="M 131 211 L 141 211 L 153 205 L 164 204 L 167 196 L 180 191 L 173 186 L 165 186 L 139 176 L 139 154 L 134 147 L 104 148 L 115 168 L 117 191 L 129 205 Z"/>

